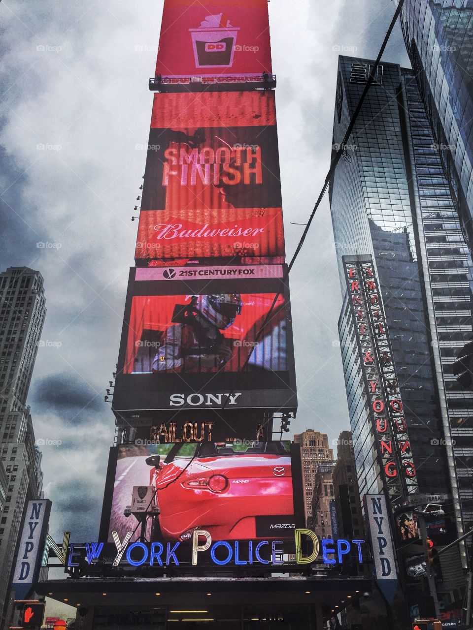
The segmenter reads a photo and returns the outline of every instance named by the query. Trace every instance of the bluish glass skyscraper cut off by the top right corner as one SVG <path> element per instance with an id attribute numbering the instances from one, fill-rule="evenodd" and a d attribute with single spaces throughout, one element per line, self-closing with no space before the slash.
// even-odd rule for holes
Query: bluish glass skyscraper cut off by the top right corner
<path id="1" fill-rule="evenodd" d="M 473 0 L 405 0 L 400 23 L 471 251 Z"/>

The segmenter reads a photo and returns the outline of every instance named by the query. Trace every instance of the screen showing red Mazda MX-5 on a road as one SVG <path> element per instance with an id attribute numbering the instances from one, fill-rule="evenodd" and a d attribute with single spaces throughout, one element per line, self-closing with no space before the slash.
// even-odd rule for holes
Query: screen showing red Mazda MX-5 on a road
<path id="1" fill-rule="evenodd" d="M 134 531 L 138 540 L 143 515 L 149 542 L 186 541 L 194 529 L 207 530 L 214 541 L 294 537 L 289 442 L 121 445 L 116 450 L 110 542 L 114 531 L 120 540 Z"/>

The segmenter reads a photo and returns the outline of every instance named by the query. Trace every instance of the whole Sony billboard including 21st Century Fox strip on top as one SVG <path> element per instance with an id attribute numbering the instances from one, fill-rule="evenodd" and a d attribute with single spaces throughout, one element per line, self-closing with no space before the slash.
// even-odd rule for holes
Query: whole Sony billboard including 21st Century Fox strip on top
<path id="1" fill-rule="evenodd" d="M 114 411 L 295 408 L 287 286 L 266 268 L 229 271 L 132 268 Z"/>

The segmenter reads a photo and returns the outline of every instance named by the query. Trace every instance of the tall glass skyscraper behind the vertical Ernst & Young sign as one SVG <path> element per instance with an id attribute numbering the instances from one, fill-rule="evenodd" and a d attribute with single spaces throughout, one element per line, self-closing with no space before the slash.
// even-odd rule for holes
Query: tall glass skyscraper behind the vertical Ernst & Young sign
<path id="1" fill-rule="evenodd" d="M 334 151 L 373 62 L 339 58 Z M 452 374 L 472 336 L 472 260 L 414 72 L 383 63 L 330 185 L 344 295 L 342 360 L 359 491 L 382 491 L 344 261 L 372 260 L 421 495 L 448 495 L 459 534 L 473 524 L 473 397 Z M 471 450 L 471 454 L 470 454 Z"/>

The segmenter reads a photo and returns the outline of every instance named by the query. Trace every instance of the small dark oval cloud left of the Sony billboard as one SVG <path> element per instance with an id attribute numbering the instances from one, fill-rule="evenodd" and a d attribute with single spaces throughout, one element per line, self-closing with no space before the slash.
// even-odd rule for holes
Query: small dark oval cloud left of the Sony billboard
<path id="1" fill-rule="evenodd" d="M 64 415 L 71 412 L 76 414 L 76 421 L 87 417 L 86 413 L 78 414 L 78 411 L 103 410 L 102 392 L 97 394 L 76 374 L 53 374 L 37 379 L 30 398 L 39 413 L 55 411 Z"/>

